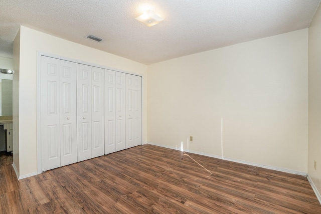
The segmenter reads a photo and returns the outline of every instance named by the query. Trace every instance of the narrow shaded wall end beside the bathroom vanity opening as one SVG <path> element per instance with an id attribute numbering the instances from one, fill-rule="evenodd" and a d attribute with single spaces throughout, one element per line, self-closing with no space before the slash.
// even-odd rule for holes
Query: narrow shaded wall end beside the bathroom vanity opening
<path id="1" fill-rule="evenodd" d="M 13 153 L 14 153 L 14 166 L 16 172 L 19 173 L 19 71 L 20 71 L 20 30 L 18 31 L 13 44 Z M 19 174 L 18 174 L 19 176 Z"/>

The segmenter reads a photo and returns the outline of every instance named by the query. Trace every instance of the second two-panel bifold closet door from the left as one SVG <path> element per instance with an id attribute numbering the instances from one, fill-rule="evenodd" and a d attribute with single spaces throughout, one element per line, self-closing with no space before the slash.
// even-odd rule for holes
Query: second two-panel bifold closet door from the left
<path id="1" fill-rule="evenodd" d="M 77 64 L 78 161 L 104 154 L 104 69 Z"/>

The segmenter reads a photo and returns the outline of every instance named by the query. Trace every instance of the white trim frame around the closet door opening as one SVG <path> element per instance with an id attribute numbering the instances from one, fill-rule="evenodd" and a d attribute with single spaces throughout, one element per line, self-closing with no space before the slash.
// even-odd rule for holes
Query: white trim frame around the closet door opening
<path id="1" fill-rule="evenodd" d="M 77 60 L 77 59 L 73 59 L 73 58 L 69 58 L 69 57 L 64 57 L 64 56 L 60 56 L 60 55 L 56 55 L 56 54 L 52 54 L 52 53 L 47 53 L 47 52 L 42 52 L 42 51 L 37 51 L 37 84 L 36 84 L 36 91 L 37 91 L 37 108 L 36 108 L 36 124 L 37 124 L 37 128 L 36 128 L 36 133 L 37 133 L 37 174 L 41 174 L 42 173 L 42 168 L 41 168 L 41 120 L 40 120 L 40 79 L 41 79 L 41 56 L 46 56 L 46 57 L 52 57 L 52 58 L 56 58 L 56 59 L 60 59 L 60 60 L 65 60 L 65 61 L 70 61 L 70 62 L 74 62 L 74 63 L 78 63 L 78 64 L 84 64 L 84 65 L 89 65 L 89 66 L 93 66 L 93 67 L 98 67 L 98 68 L 102 68 L 102 69 L 107 69 L 107 70 L 112 70 L 112 71 L 117 71 L 117 72 L 122 72 L 125 74 L 132 74 L 132 75 L 136 75 L 141 77 L 141 136 L 142 136 L 142 142 L 141 144 L 143 144 L 143 120 L 144 120 L 144 116 L 143 116 L 143 112 L 144 112 L 144 108 L 143 108 L 143 103 L 144 103 L 144 99 L 143 99 L 143 89 L 144 89 L 144 84 L 143 84 L 143 80 L 144 80 L 144 74 L 139 74 L 139 73 L 135 73 L 135 72 L 130 72 L 130 71 L 124 71 L 121 69 L 116 69 L 116 68 L 112 68 L 112 67 L 108 67 L 108 66 L 103 66 L 103 65 L 98 65 L 98 64 L 94 64 L 94 63 L 90 63 L 90 62 L 85 62 L 82 60 Z"/>

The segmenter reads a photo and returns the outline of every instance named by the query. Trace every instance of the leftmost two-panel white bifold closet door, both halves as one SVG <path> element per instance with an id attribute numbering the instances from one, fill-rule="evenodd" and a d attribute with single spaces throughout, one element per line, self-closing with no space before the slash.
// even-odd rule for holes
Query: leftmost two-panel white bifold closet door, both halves
<path id="1" fill-rule="evenodd" d="M 41 57 L 42 171 L 77 162 L 76 63 Z"/>

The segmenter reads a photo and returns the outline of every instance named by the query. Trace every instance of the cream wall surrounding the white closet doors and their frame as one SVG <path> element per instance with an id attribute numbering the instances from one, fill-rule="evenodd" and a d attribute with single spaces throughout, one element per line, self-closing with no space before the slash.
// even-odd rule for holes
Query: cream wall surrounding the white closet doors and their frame
<path id="1" fill-rule="evenodd" d="M 37 51 L 143 75 L 143 109 L 146 109 L 147 66 L 21 26 L 19 84 L 20 176 L 37 172 L 36 70 Z M 143 111 L 143 142 L 146 113 Z"/>

